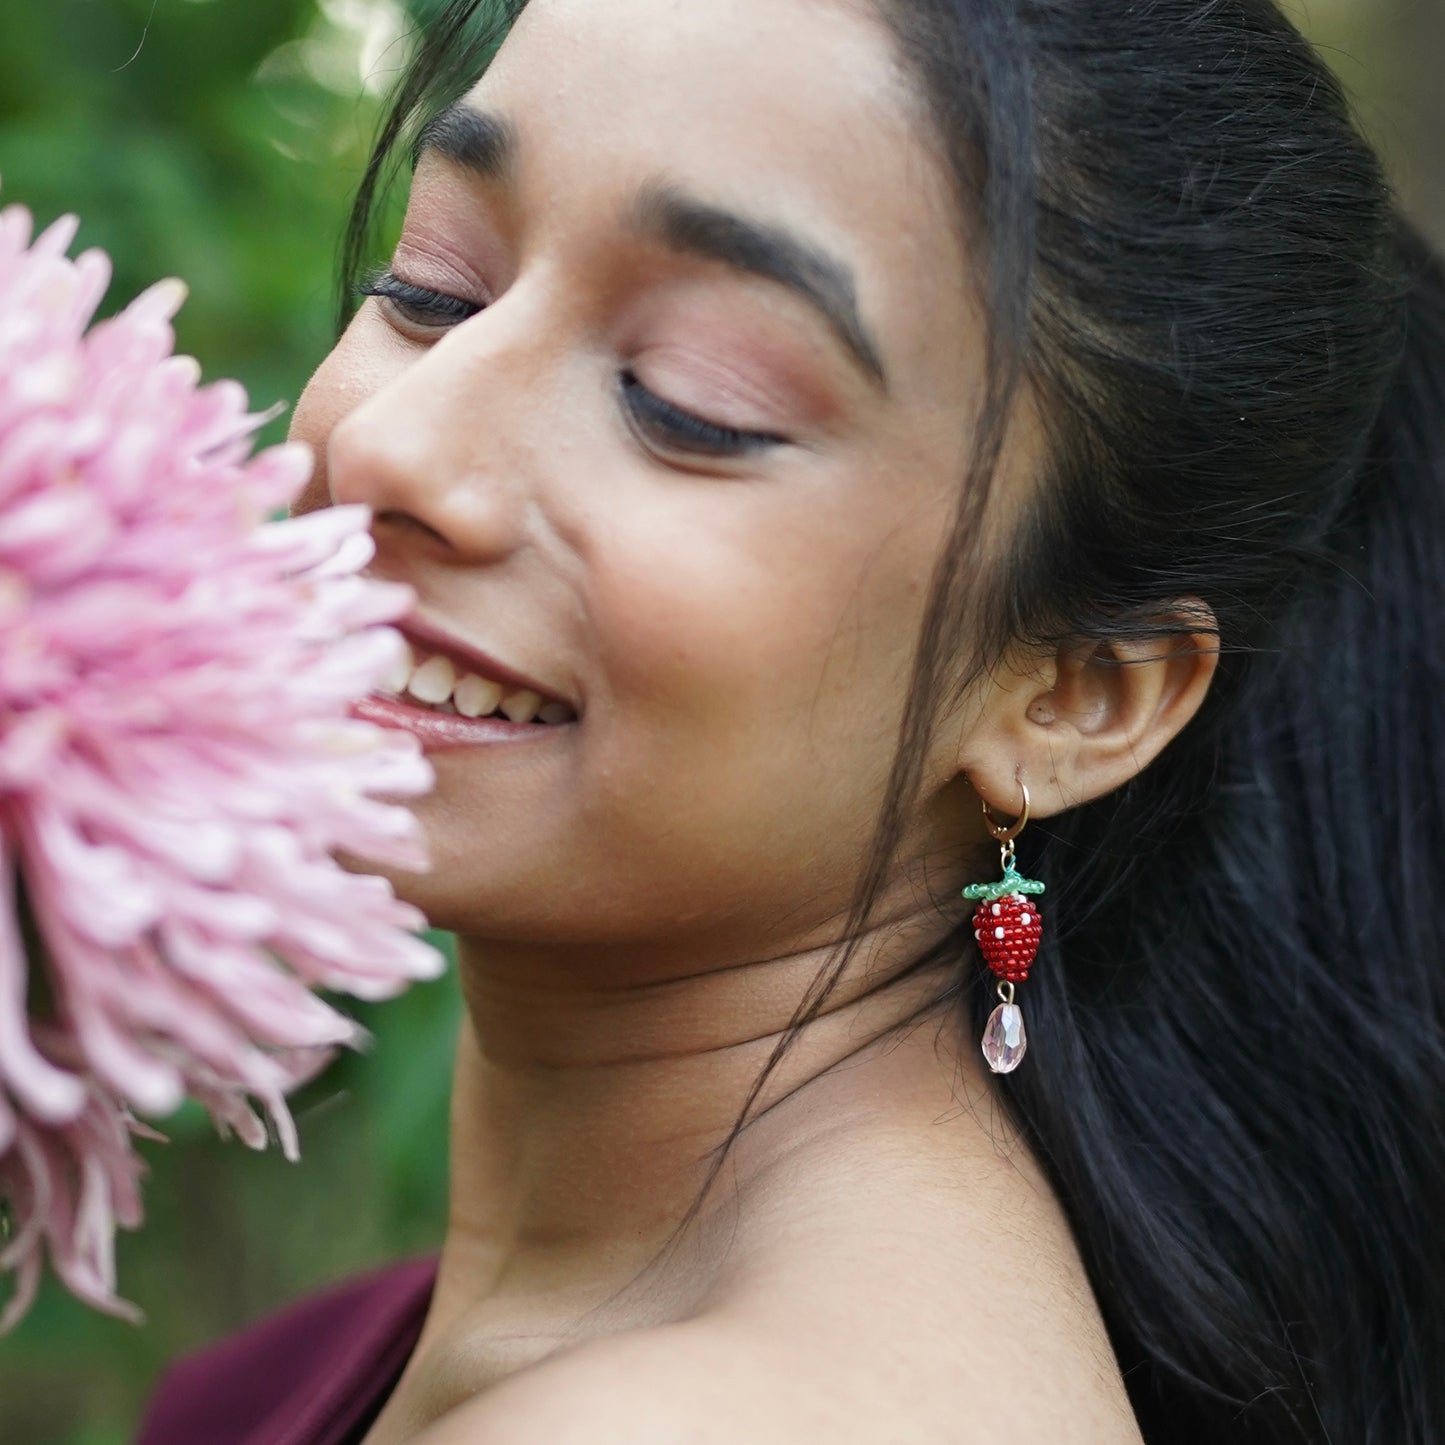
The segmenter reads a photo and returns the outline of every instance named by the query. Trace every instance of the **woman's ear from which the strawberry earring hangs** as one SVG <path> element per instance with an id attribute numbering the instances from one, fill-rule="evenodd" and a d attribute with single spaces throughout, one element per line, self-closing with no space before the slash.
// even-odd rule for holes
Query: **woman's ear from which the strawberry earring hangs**
<path id="1" fill-rule="evenodd" d="M 1198 712 L 1220 643 L 1214 613 L 1185 598 L 1168 634 L 1078 643 L 994 670 L 959 750 L 959 767 L 997 812 L 1033 816 L 1103 798 L 1143 772 Z"/>

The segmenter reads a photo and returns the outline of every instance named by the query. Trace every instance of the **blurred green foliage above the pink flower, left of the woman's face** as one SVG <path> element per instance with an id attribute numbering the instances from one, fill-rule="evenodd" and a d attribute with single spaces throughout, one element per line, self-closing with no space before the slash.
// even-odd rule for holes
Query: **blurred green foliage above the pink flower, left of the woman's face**
<path id="1" fill-rule="evenodd" d="M 238 376 L 257 409 L 293 402 L 331 337 L 340 223 L 376 118 L 358 52 L 384 42 L 389 14 L 373 0 L 26 0 L 0 45 L 0 195 L 42 224 L 78 212 L 79 244 L 116 263 L 116 303 L 182 276 L 181 350 Z M 374 81 L 405 52 L 376 56 Z"/>

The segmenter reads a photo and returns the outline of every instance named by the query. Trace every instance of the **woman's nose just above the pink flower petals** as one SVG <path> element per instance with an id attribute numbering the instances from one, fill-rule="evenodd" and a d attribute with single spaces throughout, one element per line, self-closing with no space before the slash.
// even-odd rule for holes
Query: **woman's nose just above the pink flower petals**
<path id="1" fill-rule="evenodd" d="M 527 387 L 519 381 L 529 363 L 523 338 L 504 335 L 500 303 L 496 311 L 402 363 L 331 431 L 331 499 L 371 507 L 379 548 L 425 538 L 448 561 L 480 564 L 526 540 Z"/>

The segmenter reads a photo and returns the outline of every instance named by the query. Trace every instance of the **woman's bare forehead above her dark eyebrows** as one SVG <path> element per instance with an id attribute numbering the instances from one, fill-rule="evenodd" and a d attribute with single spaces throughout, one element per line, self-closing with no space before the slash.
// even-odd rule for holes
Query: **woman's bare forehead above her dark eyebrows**
<path id="1" fill-rule="evenodd" d="M 517 186 L 558 217 L 620 215 L 660 182 L 815 237 L 851 267 L 894 374 L 955 390 L 974 314 L 961 218 L 871 9 L 532 0 L 470 101 L 513 123 Z"/>

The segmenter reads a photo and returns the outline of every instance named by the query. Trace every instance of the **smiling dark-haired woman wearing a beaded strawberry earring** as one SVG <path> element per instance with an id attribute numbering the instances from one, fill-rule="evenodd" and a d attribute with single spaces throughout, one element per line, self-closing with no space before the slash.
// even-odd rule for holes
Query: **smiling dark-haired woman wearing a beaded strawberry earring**
<path id="1" fill-rule="evenodd" d="M 1267 0 L 488 17 L 293 425 L 418 595 L 447 1241 L 142 1439 L 1433 1439 L 1445 276 L 1328 72 Z"/>

